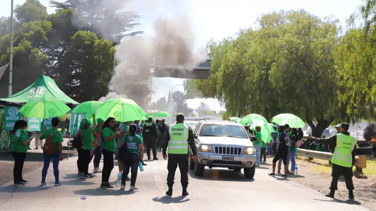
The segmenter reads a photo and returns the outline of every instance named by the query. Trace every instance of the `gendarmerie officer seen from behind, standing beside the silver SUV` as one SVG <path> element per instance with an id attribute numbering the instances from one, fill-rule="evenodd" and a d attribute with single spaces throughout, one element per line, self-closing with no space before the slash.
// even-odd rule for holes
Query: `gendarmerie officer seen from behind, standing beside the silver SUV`
<path id="1" fill-rule="evenodd" d="M 192 160 L 196 161 L 197 151 L 194 144 L 194 135 L 192 130 L 184 124 L 184 115 L 176 115 L 176 124 L 171 125 L 163 142 L 163 158 L 167 159 L 168 146 L 168 164 L 167 164 L 167 186 L 168 191 L 166 195 L 172 195 L 172 186 L 174 184 L 174 177 L 176 168 L 179 166 L 181 174 L 181 184 L 183 187 L 183 196 L 188 195 L 188 159 L 189 147 L 192 150 Z"/>

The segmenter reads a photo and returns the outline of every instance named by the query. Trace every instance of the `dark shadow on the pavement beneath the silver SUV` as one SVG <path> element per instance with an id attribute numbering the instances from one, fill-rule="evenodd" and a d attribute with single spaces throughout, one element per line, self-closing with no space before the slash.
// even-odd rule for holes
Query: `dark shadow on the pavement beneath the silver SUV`
<path id="1" fill-rule="evenodd" d="M 243 173 L 235 172 L 233 170 L 225 169 L 205 169 L 204 176 L 194 175 L 193 170 L 188 171 L 190 177 L 201 180 L 216 180 L 216 181 L 236 181 L 236 182 L 253 182 L 254 179 L 247 179 Z"/>

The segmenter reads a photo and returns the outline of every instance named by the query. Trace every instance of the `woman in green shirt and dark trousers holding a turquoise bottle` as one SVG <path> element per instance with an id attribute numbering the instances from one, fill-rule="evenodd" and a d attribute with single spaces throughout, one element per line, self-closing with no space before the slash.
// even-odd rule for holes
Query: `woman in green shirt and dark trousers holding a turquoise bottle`
<path id="1" fill-rule="evenodd" d="M 130 178 L 130 190 L 136 190 L 136 179 L 137 179 L 137 172 L 139 162 L 142 161 L 142 157 L 144 155 L 144 145 L 141 140 L 141 137 L 136 134 L 137 126 L 130 125 L 129 127 L 129 134 L 125 134 L 123 137 L 123 142 L 121 145 L 126 144 L 127 147 L 127 160 L 123 163 L 123 175 L 122 175 L 122 187 L 121 190 L 125 189 L 125 181 L 128 177 L 129 169 L 131 171 L 131 178 Z"/>

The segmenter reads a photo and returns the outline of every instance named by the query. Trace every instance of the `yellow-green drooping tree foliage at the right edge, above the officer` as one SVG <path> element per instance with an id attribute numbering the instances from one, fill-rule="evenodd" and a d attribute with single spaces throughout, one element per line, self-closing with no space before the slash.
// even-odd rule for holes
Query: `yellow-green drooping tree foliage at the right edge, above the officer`
<path id="1" fill-rule="evenodd" d="M 375 119 L 376 0 L 366 0 L 349 21 L 336 48 L 338 96 L 353 119 Z M 358 18 L 364 20 L 356 25 Z"/>

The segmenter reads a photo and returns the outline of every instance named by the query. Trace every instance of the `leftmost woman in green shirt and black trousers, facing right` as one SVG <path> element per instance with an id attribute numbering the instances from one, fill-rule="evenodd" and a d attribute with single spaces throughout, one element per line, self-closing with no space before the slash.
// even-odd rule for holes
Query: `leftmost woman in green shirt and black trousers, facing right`
<path id="1" fill-rule="evenodd" d="M 26 127 L 27 122 L 25 120 L 17 121 L 14 124 L 10 141 L 10 152 L 14 157 L 13 181 L 16 186 L 24 186 L 27 183 L 27 181 L 22 178 L 22 168 L 26 158 L 27 145 L 30 144 L 31 141 L 25 131 Z"/>

